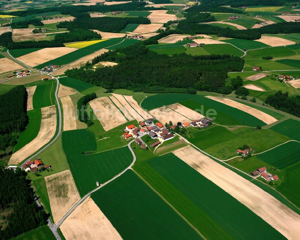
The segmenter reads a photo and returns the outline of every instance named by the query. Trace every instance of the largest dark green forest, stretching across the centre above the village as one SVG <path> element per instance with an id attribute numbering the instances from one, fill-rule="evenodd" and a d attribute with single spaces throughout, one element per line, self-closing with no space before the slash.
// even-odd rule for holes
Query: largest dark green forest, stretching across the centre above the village
<path id="1" fill-rule="evenodd" d="M 117 62 L 118 65 L 92 70 L 92 66 L 100 61 Z M 241 71 L 243 66 L 244 59 L 230 55 L 160 55 L 142 42 L 106 52 L 81 68 L 65 73 L 106 89 L 188 88 L 228 94 L 234 89 L 230 88 L 229 92 L 229 87 L 225 87 L 227 72 Z"/>

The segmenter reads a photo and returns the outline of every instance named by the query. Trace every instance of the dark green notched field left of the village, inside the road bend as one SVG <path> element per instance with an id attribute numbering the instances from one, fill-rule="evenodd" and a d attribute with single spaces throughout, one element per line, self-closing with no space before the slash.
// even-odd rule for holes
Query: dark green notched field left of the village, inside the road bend
<path id="1" fill-rule="evenodd" d="M 104 183 L 122 172 L 133 159 L 127 146 L 83 155 L 96 150 L 94 134 L 87 129 L 62 132 L 62 145 L 80 196 L 96 188 L 96 181 Z"/>

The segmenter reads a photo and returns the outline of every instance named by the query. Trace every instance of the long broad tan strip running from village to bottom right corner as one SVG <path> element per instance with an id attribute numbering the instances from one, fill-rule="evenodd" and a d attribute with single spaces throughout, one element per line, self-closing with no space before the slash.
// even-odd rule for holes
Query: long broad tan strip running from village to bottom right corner
<path id="1" fill-rule="evenodd" d="M 299 238 L 300 216 L 269 193 L 193 147 L 182 148 L 173 153 L 264 219 L 286 238 Z"/>

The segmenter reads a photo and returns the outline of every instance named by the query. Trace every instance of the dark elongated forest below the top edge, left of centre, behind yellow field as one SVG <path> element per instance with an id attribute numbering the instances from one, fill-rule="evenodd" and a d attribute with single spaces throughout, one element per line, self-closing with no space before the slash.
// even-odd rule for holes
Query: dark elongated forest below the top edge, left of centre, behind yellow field
<path id="1" fill-rule="evenodd" d="M 57 25 L 58 28 L 96 29 L 102 32 L 120 32 L 129 23 L 150 24 L 146 17 L 81 17 L 73 21 L 64 21 Z"/>

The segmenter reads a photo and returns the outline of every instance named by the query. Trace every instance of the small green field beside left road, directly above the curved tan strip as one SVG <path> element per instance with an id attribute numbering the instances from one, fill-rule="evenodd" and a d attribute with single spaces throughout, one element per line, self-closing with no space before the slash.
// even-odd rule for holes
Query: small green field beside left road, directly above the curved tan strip
<path id="1" fill-rule="evenodd" d="M 55 88 L 53 81 L 38 85 L 32 98 L 33 108 L 43 108 L 55 104 Z"/>

